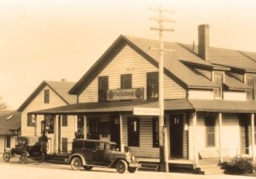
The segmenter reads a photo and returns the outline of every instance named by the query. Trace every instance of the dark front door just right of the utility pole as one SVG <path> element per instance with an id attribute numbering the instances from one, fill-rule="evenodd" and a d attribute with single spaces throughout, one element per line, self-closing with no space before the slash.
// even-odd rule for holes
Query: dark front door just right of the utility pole
<path id="1" fill-rule="evenodd" d="M 170 116 L 171 158 L 183 158 L 183 115 Z"/>

